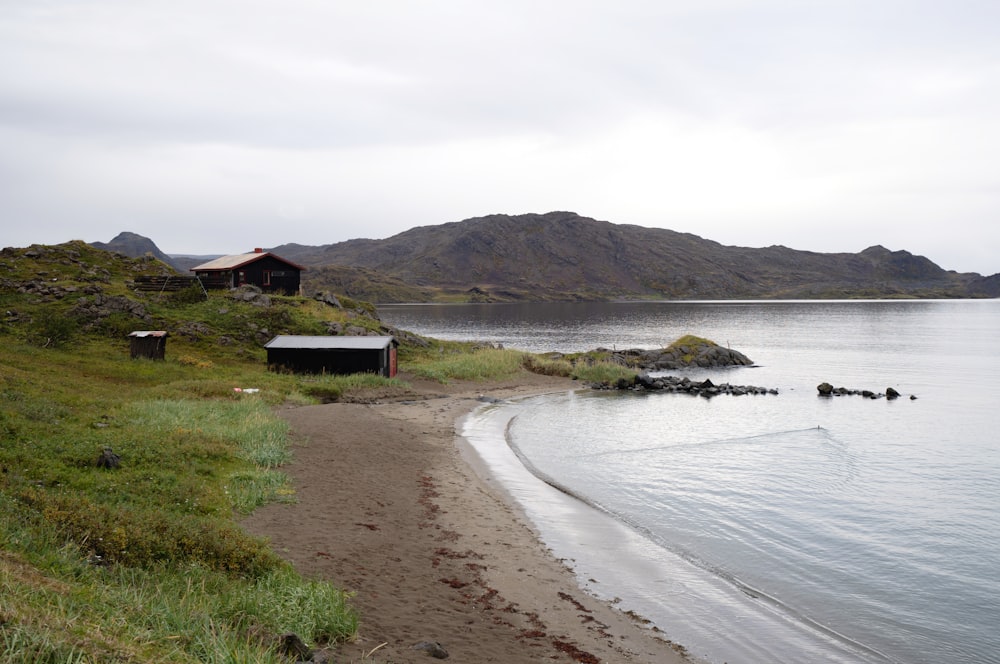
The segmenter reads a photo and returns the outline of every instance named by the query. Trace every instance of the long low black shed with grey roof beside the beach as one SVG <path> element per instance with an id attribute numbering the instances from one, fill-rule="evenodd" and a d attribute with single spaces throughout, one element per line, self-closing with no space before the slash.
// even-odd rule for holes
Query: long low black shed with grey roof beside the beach
<path id="1" fill-rule="evenodd" d="M 271 371 L 396 375 L 395 337 L 280 335 L 264 345 Z"/>

